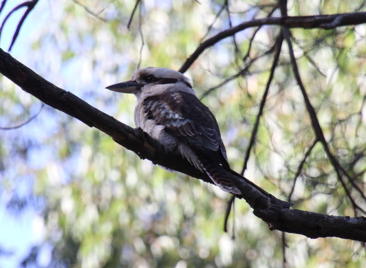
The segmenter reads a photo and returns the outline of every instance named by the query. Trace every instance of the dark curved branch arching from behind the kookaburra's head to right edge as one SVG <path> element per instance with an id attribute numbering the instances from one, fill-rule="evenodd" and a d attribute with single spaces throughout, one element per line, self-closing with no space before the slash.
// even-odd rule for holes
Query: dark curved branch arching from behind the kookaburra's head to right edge
<path id="1" fill-rule="evenodd" d="M 357 13 L 341 13 L 335 15 L 318 15 L 318 16 L 294 16 L 283 18 L 264 18 L 254 19 L 253 21 L 247 21 L 240 23 L 239 25 L 221 31 L 215 36 L 202 42 L 198 48 L 192 53 L 192 55 L 186 60 L 186 62 L 180 67 L 179 71 L 184 73 L 193 64 L 193 62 L 205 51 L 206 48 L 213 46 L 217 42 L 232 36 L 239 31 L 245 30 L 249 27 L 257 27 L 262 25 L 278 25 L 286 28 L 322 28 L 333 29 L 339 26 L 358 25 L 366 23 L 366 12 Z"/>

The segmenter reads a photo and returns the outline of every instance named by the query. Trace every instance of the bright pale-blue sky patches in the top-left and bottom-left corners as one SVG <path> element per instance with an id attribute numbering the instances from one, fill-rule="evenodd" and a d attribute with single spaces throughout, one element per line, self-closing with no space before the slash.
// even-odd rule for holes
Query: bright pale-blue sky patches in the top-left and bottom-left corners
<path id="1" fill-rule="evenodd" d="M 23 1 L 8 1 L 3 12 L 0 14 L 0 21 L 3 22 L 4 17 L 17 5 L 16 3 L 21 2 Z M 42 8 L 39 8 L 39 6 L 47 5 L 47 2 L 39 1 L 35 10 L 30 13 L 29 18 L 23 23 L 18 39 L 10 52 L 16 59 L 22 61 L 22 57 L 26 53 L 29 53 L 29 46 L 24 44 L 29 44 L 28 40 L 30 40 L 32 32 L 36 31 L 37 27 L 40 26 L 40 23 L 33 22 L 41 21 L 42 14 L 38 10 L 42 10 Z M 24 12 L 25 8 L 22 8 L 7 20 L 0 39 L 0 47 L 4 51 L 8 50 L 16 26 Z M 37 20 L 35 20 L 36 17 Z M 1 250 L 9 253 L 0 255 L 0 268 L 18 267 L 23 258 L 29 254 L 31 247 L 39 244 L 43 237 L 42 217 L 37 215 L 31 207 L 27 207 L 20 213 L 7 210 L 6 205 L 9 198 L 9 193 L 4 191 L 0 184 L 0 246 Z M 48 264 L 50 258 L 49 248 L 44 247 L 40 256 L 40 264 Z"/>

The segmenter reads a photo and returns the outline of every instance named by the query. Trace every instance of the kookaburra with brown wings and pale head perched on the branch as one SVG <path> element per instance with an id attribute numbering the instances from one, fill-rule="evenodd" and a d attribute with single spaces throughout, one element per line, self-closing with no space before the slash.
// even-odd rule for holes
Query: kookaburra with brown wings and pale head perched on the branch
<path id="1" fill-rule="evenodd" d="M 147 67 L 127 82 L 107 89 L 137 97 L 136 127 L 156 139 L 167 152 L 180 154 L 222 190 L 241 194 L 231 178 L 219 126 L 212 112 L 198 100 L 182 73 Z"/>

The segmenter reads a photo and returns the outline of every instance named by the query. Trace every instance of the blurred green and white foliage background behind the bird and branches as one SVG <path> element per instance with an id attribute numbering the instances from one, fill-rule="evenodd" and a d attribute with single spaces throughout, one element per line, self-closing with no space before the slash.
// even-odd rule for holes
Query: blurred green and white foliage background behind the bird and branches
<path id="1" fill-rule="evenodd" d="M 43 2 L 43 3 L 42 3 Z M 264 18 L 276 1 L 41 1 L 38 26 L 16 57 L 42 77 L 133 126 L 134 96 L 105 86 L 128 80 L 138 65 L 178 70 L 203 38 L 230 25 Z M 89 11 L 89 12 L 88 12 Z M 364 1 L 289 1 L 289 15 L 365 11 Z M 276 11 L 274 15 L 279 15 Z M 202 101 L 214 112 L 229 163 L 236 171 L 268 81 L 279 27 L 247 29 L 207 49 L 186 75 L 198 96 L 227 77 Z M 25 34 L 24 32 L 20 34 Z M 331 152 L 361 190 L 365 187 L 365 25 L 334 30 L 291 29 L 307 94 Z M 250 40 L 254 36 L 251 46 Z M 250 51 L 248 51 L 250 47 Z M 248 55 L 245 57 L 245 55 Z M 0 127 L 21 124 L 40 102 L 0 77 Z M 303 97 L 292 75 L 287 45 L 269 90 L 251 151 L 247 178 L 295 208 L 361 216 L 352 207 L 324 148 L 315 142 Z M 309 239 L 269 231 L 236 200 L 223 231 L 227 193 L 140 160 L 107 135 L 44 107 L 23 127 L 0 130 L 1 202 L 13 212 L 34 209 L 42 239 L 23 267 L 365 267 L 355 241 Z M 365 200 L 352 188 L 352 199 Z M 33 223 L 34 224 L 34 223 Z M 235 235 L 235 239 L 232 236 Z M 0 245 L 6 252 L 6 245 Z M 38 256 L 48 249 L 49 261 Z M 38 256 L 38 257 L 37 257 Z M 5 256 L 6 257 L 6 256 Z"/>

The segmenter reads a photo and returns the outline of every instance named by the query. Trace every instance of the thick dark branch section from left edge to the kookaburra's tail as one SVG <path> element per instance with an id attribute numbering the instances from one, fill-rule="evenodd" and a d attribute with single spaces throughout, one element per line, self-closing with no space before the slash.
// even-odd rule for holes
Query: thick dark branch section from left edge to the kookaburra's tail
<path id="1" fill-rule="evenodd" d="M 181 158 L 166 156 L 163 149 L 158 146 L 157 141 L 142 130 L 133 129 L 92 107 L 74 94 L 58 88 L 12 58 L 10 54 L 2 49 L 0 49 L 0 72 L 25 92 L 55 109 L 79 119 L 87 126 L 103 131 L 118 144 L 135 152 L 141 159 L 149 159 L 154 164 L 172 168 L 206 182 L 210 181 L 205 174 L 193 170 L 187 161 L 178 161 Z M 170 161 L 169 157 L 172 157 L 174 161 Z M 175 162 L 175 164 L 173 165 L 170 162 Z"/>

